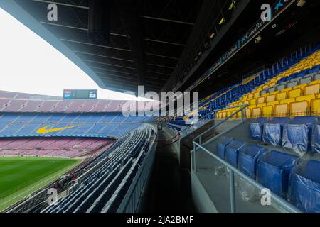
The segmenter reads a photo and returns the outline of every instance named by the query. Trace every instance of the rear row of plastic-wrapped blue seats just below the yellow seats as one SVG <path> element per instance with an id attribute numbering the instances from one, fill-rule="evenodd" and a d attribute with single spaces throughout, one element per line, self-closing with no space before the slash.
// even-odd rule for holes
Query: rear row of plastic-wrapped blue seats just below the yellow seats
<path id="1" fill-rule="evenodd" d="M 317 117 L 259 118 L 250 123 L 250 138 L 298 153 L 319 153 L 319 127 Z"/>

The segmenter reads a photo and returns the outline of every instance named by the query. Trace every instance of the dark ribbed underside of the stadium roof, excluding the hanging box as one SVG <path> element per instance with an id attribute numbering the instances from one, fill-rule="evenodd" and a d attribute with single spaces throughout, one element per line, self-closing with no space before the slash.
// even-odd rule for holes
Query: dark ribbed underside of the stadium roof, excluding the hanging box
<path id="1" fill-rule="evenodd" d="M 110 36 L 104 40 L 88 33 L 89 0 L 15 1 L 73 50 L 105 87 L 136 91 L 144 85 L 145 92 L 159 92 L 206 0 L 110 0 Z M 48 21 L 49 3 L 58 5 L 58 21 Z"/>

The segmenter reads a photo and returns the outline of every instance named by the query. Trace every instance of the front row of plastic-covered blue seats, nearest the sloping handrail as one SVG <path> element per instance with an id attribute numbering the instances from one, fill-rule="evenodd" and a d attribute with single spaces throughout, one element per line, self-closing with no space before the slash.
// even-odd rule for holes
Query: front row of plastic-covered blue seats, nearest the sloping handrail
<path id="1" fill-rule="evenodd" d="M 304 212 L 320 212 L 320 162 L 221 137 L 218 156 Z"/>

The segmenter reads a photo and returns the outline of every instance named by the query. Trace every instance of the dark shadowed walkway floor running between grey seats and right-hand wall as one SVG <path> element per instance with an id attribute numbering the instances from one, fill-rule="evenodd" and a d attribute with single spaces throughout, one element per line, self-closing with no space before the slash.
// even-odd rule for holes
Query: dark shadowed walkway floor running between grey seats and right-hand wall
<path id="1" fill-rule="evenodd" d="M 159 140 L 171 139 L 159 131 Z M 156 151 L 154 169 L 146 192 L 144 212 L 196 212 L 191 196 L 191 176 L 178 165 L 174 145 L 159 147 Z"/>

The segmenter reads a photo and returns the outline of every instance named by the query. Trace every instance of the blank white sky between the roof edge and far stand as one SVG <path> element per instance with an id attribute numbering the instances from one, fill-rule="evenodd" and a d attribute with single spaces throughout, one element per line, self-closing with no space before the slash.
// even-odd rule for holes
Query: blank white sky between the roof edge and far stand
<path id="1" fill-rule="evenodd" d="M 136 99 L 100 89 L 85 72 L 0 8 L 0 90 L 63 96 L 63 89 L 97 89 L 98 99 Z M 140 99 L 140 98 L 139 98 Z"/>

